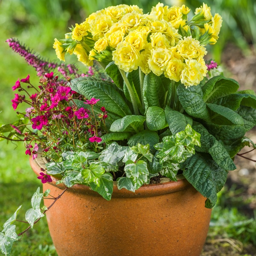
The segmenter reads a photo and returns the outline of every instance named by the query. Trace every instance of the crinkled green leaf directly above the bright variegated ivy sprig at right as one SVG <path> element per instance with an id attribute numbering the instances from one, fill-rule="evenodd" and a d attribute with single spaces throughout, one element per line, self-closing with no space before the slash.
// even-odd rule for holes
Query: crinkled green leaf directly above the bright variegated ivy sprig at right
<path id="1" fill-rule="evenodd" d="M 192 119 L 189 116 L 184 116 L 179 111 L 172 110 L 168 106 L 165 108 L 165 115 L 172 134 L 185 130 L 187 124 L 192 125 Z"/>

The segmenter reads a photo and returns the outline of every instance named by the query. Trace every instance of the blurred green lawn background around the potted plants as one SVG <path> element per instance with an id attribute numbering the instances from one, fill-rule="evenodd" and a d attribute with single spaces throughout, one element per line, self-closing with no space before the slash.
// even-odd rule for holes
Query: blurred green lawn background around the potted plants
<path id="1" fill-rule="evenodd" d="M 205 0 L 212 8 L 212 14 L 222 15 L 224 23 L 220 38 L 214 47 L 209 47 L 213 58 L 218 63 L 228 41 L 239 46 L 244 54 L 250 54 L 256 46 L 256 3 L 254 0 Z M 5 42 L 7 38 L 18 38 L 41 56 L 58 61 L 52 44 L 54 38 L 63 38 L 71 25 L 81 23 L 92 12 L 117 4 L 137 4 L 144 12 L 150 12 L 158 0 L 1 0 L 0 1 L 0 124 L 16 119 L 11 99 L 14 93 L 11 87 L 17 79 L 30 75 L 32 84 L 38 84 L 35 70 L 29 67 L 23 58 L 12 52 Z M 192 11 L 202 5 L 201 0 L 165 0 L 164 4 L 187 4 Z M 75 62 L 73 56 L 66 61 Z M 79 66 L 85 70 L 85 67 Z M 18 111 L 24 109 L 18 108 Z M 30 198 L 41 182 L 36 179 L 24 154 L 22 143 L 14 145 L 0 142 L 0 226 L 23 204 L 19 218 L 23 219 L 30 207 Z M 218 209 L 221 211 L 221 209 Z M 233 213 L 227 213 L 236 215 Z M 216 216 L 221 212 L 215 212 Z M 244 217 L 243 217 L 244 218 Z M 244 220 L 244 219 L 243 219 Z M 237 221 L 237 219 L 235 220 Z M 232 224 L 231 224 L 232 226 Z M 17 232 L 26 224 L 18 225 Z M 256 227 L 254 227 L 256 230 Z M 248 230 L 247 230 L 248 231 Z M 216 231 L 217 232 L 217 231 Z M 249 232 L 249 231 L 248 231 Z M 248 233 L 249 234 L 249 233 Z M 17 256 L 57 256 L 49 236 L 46 219 L 39 221 L 33 230 L 25 235 L 25 241 L 17 242 L 12 255 Z M 248 240 L 248 239 L 247 239 Z M 249 239 L 250 240 L 250 239 Z M 252 241 L 250 241 L 252 242 Z"/>

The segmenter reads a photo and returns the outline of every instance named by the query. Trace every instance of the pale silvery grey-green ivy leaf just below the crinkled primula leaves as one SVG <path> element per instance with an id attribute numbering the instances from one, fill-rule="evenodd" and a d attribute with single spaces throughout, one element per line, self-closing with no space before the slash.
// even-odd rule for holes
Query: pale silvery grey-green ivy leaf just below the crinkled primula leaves
<path id="1" fill-rule="evenodd" d="M 102 150 L 99 161 L 110 163 L 116 166 L 125 156 L 129 147 L 119 146 L 116 142 L 111 143 L 106 149 Z"/>

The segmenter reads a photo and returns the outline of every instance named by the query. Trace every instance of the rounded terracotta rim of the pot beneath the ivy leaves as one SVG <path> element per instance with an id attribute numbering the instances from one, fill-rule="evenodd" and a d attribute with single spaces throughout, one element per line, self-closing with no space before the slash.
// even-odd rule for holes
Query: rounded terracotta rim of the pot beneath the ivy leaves
<path id="1" fill-rule="evenodd" d="M 34 160 L 32 156 L 29 157 L 29 163 L 32 170 L 37 176 L 40 176 L 41 168 L 46 169 L 45 164 L 47 160 L 42 155 L 38 155 Z M 49 183 L 52 186 L 55 186 L 59 189 L 65 189 L 62 183 L 56 184 L 58 181 L 57 178 L 51 176 L 52 182 Z M 169 193 L 178 192 L 180 190 L 187 189 L 192 185 L 183 177 L 183 175 L 177 176 L 177 181 L 172 181 L 169 178 L 161 178 L 160 183 L 153 183 L 141 186 L 135 192 L 129 191 L 127 189 L 118 189 L 116 181 L 113 181 L 113 193 L 112 198 L 140 198 L 140 197 L 150 197 L 157 195 L 164 195 Z M 89 186 L 82 184 L 75 184 L 68 189 L 69 192 L 78 193 L 78 194 L 87 194 L 92 196 L 101 197 L 97 192 L 93 191 Z"/>

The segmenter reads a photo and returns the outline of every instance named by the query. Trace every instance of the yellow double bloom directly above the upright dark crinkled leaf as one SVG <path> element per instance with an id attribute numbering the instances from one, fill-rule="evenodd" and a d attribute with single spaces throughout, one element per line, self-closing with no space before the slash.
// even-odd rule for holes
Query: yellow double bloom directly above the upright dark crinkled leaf
<path id="1" fill-rule="evenodd" d="M 172 52 L 169 49 L 152 49 L 151 57 L 148 58 L 148 66 L 155 75 L 160 76 L 163 74 L 171 57 Z"/>

